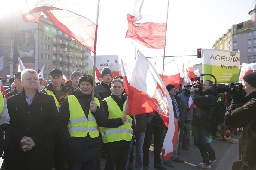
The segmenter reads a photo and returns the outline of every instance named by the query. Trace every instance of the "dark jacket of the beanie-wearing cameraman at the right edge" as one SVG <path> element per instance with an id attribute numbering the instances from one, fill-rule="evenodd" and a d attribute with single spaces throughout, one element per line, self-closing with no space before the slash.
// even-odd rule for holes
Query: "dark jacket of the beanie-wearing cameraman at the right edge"
<path id="1" fill-rule="evenodd" d="M 241 101 L 232 100 L 226 111 L 225 123 L 232 128 L 243 128 L 239 140 L 239 159 L 249 162 L 256 168 L 256 92 L 252 92 Z M 246 139 L 247 138 L 247 139 Z M 247 149 L 245 150 L 245 142 Z M 244 154 L 244 151 L 246 154 Z M 242 154 L 242 157 L 241 157 Z"/>

